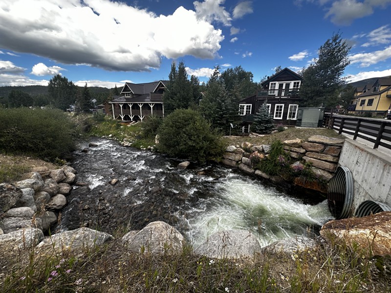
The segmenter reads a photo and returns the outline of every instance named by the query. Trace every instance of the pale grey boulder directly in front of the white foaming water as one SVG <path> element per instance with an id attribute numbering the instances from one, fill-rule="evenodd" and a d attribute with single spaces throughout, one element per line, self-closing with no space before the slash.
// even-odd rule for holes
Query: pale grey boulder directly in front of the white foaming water
<path id="1" fill-rule="evenodd" d="M 261 250 L 256 236 L 246 230 L 225 230 L 210 236 L 195 249 L 195 254 L 211 258 L 252 257 Z"/>

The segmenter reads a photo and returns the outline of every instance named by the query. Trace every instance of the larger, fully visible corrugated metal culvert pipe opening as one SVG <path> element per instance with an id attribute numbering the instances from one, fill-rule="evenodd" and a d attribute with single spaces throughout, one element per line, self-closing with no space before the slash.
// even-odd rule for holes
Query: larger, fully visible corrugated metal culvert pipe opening
<path id="1" fill-rule="evenodd" d="M 336 219 L 348 218 L 353 202 L 353 176 L 347 167 L 338 167 L 327 189 L 328 209 Z"/>

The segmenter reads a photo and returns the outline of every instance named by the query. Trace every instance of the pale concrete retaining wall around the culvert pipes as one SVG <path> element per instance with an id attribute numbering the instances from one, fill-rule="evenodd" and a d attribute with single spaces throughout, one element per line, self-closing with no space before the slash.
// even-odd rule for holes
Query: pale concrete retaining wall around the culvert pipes
<path id="1" fill-rule="evenodd" d="M 391 207 L 391 157 L 346 139 L 339 164 L 353 175 L 352 214 L 366 200 L 382 202 Z"/>

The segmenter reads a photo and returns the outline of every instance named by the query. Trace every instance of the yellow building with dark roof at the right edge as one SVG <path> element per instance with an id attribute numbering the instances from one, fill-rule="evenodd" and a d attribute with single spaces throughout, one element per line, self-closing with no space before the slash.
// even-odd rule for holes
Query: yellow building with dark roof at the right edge
<path id="1" fill-rule="evenodd" d="M 391 106 L 391 77 L 378 78 L 371 88 L 357 96 L 355 113 L 385 116 Z"/>

